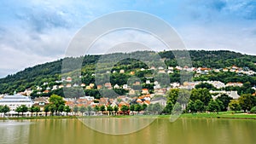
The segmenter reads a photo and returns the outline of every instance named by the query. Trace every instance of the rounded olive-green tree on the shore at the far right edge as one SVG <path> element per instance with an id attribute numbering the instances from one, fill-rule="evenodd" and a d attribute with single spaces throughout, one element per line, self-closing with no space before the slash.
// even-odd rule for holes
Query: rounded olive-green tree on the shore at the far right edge
<path id="1" fill-rule="evenodd" d="M 250 111 L 256 106 L 256 97 L 251 94 L 241 95 L 241 97 L 238 98 L 238 101 L 244 112 Z"/>

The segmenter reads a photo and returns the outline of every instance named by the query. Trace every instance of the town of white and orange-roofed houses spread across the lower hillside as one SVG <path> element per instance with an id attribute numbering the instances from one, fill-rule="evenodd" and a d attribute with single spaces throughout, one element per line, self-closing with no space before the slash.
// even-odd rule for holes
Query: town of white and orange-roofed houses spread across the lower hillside
<path id="1" fill-rule="evenodd" d="M 150 67 L 150 69 L 139 69 L 137 72 L 143 71 L 157 71 L 159 73 L 173 73 L 175 71 L 186 71 L 193 72 L 194 77 L 200 77 L 201 75 L 208 75 L 211 72 L 234 72 L 236 74 L 243 74 L 247 76 L 255 75 L 255 72 L 249 70 L 247 67 L 241 68 L 237 66 L 230 66 L 223 69 L 211 69 L 211 68 L 202 68 L 202 67 L 180 67 L 180 66 L 168 66 L 167 69 L 163 67 L 155 68 L 154 66 Z M 116 73 L 117 71 L 113 71 L 112 73 Z M 108 72 L 109 73 L 109 72 Z M 125 73 L 125 70 L 119 70 L 119 73 Z M 130 75 L 135 75 L 136 72 L 129 72 Z M 82 78 L 82 77 L 80 77 Z M 29 115 L 39 115 L 39 116 L 47 116 L 48 112 L 57 112 L 60 115 L 119 115 L 119 114 L 160 114 L 164 112 L 164 109 L 168 103 L 168 91 L 172 91 L 172 89 L 195 89 L 199 85 L 208 84 L 211 85 L 213 89 L 207 89 L 209 94 L 212 96 L 212 100 L 218 99 L 221 95 L 227 95 L 230 100 L 237 101 L 241 95 L 238 95 L 236 90 L 225 90 L 225 88 L 239 87 L 241 88 L 244 84 L 241 82 L 229 82 L 224 84 L 220 81 L 194 81 L 194 82 L 183 82 L 180 83 L 170 83 L 168 86 L 163 87 L 158 81 L 152 82 L 151 79 L 146 79 L 145 84 L 153 85 L 153 89 L 143 88 L 143 83 L 140 80 L 132 81 L 132 84 L 111 84 L 106 83 L 104 85 L 96 85 L 96 84 L 73 84 L 73 78 L 67 77 L 62 78 L 60 81 L 55 81 L 55 85 L 49 86 L 48 82 L 45 82 L 42 86 L 37 86 L 35 89 L 26 89 L 23 92 L 15 92 L 15 95 L 1 95 L 0 98 L 0 106 L 7 106 L 7 110 L 3 111 L 4 115 L 8 116 L 19 116 L 20 112 L 25 116 Z M 141 86 L 141 87 L 140 87 Z M 44 87 L 44 88 L 43 88 Z M 33 97 L 32 93 L 36 91 L 37 95 L 48 94 L 51 91 L 56 89 L 63 88 L 77 88 L 77 89 L 122 89 L 127 92 L 125 95 L 118 95 L 117 97 L 109 97 L 102 96 L 100 98 L 96 98 L 94 95 L 77 95 L 76 97 L 64 97 L 63 101 L 65 101 L 65 106 L 58 110 L 58 107 L 51 110 L 45 108 L 51 102 L 49 101 L 49 96 L 39 96 Z M 255 87 L 249 88 L 254 89 Z M 255 93 L 253 95 L 256 95 Z M 187 101 L 188 103 L 189 101 Z M 209 101 L 208 101 L 209 102 Z M 172 108 L 173 105 L 172 103 Z M 207 103 L 208 104 L 208 103 Z M 155 106 L 154 106 L 155 105 Z M 21 108 L 20 108 L 21 107 Z M 20 110 L 20 109 L 25 110 Z M 26 108 L 27 107 L 27 108 Z M 188 104 L 182 104 L 180 107 L 176 107 L 177 110 L 185 110 L 188 107 Z M 206 105 L 207 107 L 207 105 Z M 225 106 L 224 108 L 229 108 Z M 2 108 L 4 109 L 4 108 Z M 17 110 L 18 109 L 18 110 Z M 203 108 L 202 108 L 203 110 Z M 206 109 L 205 109 L 206 110 Z M 239 109 L 237 109 L 239 110 Z M 249 109 L 247 109 L 249 110 Z M 169 110 L 170 111 L 170 110 Z M 214 109 L 216 111 L 216 109 Z M 219 110 L 218 110 L 219 111 Z M 24 112 L 24 113 L 23 113 Z M 34 112 L 34 113 L 33 113 Z M 36 113 L 35 113 L 36 112 Z"/>

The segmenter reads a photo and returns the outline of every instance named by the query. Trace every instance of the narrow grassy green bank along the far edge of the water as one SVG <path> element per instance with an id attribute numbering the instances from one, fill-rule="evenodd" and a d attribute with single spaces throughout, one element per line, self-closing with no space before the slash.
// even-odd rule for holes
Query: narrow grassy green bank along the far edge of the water
<path id="1" fill-rule="evenodd" d="M 119 115 L 119 116 L 47 116 L 47 117 L 2 117 L 0 120 L 19 120 L 19 119 L 56 119 L 56 118 L 146 118 L 146 117 L 154 117 L 152 115 Z M 170 118 L 170 115 L 158 115 L 155 116 L 157 118 Z M 234 113 L 234 112 L 197 112 L 197 113 L 183 113 L 180 118 L 240 118 L 240 119 L 255 119 L 256 120 L 256 114 L 248 114 L 248 113 Z"/>

